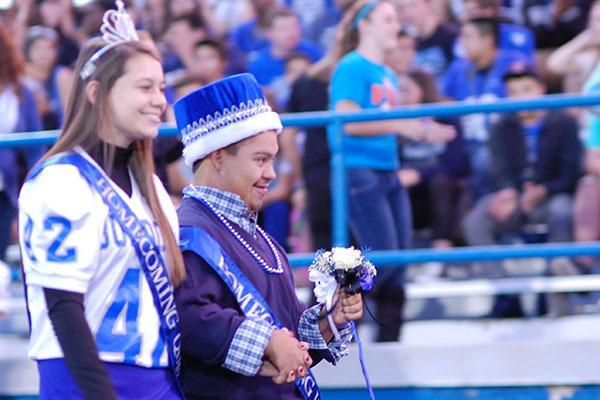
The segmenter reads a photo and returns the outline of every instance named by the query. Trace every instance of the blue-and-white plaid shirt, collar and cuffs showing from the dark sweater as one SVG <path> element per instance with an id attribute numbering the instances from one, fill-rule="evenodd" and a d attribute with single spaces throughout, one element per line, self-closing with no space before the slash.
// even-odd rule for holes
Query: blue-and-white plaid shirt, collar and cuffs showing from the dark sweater
<path id="1" fill-rule="evenodd" d="M 189 185 L 184 194 L 200 197 L 212 205 L 219 213 L 235 222 L 246 232 L 256 237 L 256 212 L 250 212 L 240 196 L 207 186 Z M 305 310 L 300 316 L 298 336 L 309 344 L 311 349 L 329 349 L 334 363 L 348 353 L 352 342 L 352 328 L 346 324 L 340 329 L 340 339 L 325 342 L 319 330 L 321 304 Z M 245 376 L 255 376 L 262 365 L 264 352 L 271 339 L 273 326 L 263 319 L 247 318 L 233 335 L 223 367 Z"/>

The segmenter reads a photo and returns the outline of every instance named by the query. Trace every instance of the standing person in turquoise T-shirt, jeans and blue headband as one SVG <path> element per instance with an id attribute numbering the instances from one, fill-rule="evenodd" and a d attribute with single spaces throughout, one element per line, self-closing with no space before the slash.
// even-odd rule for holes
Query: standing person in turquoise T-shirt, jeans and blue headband
<path id="1" fill-rule="evenodd" d="M 389 1 L 358 1 L 341 23 L 339 54 L 330 83 L 336 111 L 386 110 L 400 104 L 395 73 L 384 64 L 397 43 L 400 25 Z M 433 121 L 386 120 L 344 126 L 350 228 L 359 245 L 373 250 L 410 247 L 412 222 L 406 190 L 396 175 L 398 136 L 445 142 L 455 131 Z M 331 138 L 330 138 L 331 139 Z M 403 273 L 384 269 L 374 298 L 382 323 L 378 341 L 398 340 L 404 303 Z"/>

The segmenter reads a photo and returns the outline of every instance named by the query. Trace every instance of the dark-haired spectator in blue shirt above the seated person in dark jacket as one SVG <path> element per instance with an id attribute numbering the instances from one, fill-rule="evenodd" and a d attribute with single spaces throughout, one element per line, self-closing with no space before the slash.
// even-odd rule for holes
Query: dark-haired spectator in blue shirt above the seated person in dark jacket
<path id="1" fill-rule="evenodd" d="M 518 53 L 498 48 L 498 23 L 491 18 L 465 22 L 460 32 L 465 58 L 450 64 L 444 79 L 443 93 L 465 102 L 492 102 L 505 97 L 502 76 L 515 61 L 526 61 Z M 489 193 L 490 154 L 488 137 L 494 114 L 471 114 L 461 118 L 467 153 L 473 174 L 469 187 L 475 199 Z"/>

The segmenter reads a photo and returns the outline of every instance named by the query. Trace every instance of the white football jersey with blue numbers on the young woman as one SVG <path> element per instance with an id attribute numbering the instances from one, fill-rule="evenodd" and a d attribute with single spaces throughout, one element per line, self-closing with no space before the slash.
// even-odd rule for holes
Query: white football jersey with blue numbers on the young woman
<path id="1" fill-rule="evenodd" d="M 111 181 L 112 187 L 164 248 L 130 176 L 131 197 Z M 154 181 L 177 238 L 175 208 L 156 176 Z M 30 357 L 63 356 L 46 309 L 43 288 L 50 288 L 84 294 L 85 317 L 103 361 L 168 366 L 159 314 L 131 240 L 75 166 L 47 166 L 25 183 L 19 196 L 19 240 L 31 316 Z"/>

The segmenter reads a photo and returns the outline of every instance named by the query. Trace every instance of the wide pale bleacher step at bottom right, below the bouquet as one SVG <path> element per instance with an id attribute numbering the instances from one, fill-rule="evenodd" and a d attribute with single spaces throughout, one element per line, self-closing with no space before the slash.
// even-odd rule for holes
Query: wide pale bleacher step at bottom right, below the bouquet
<path id="1" fill-rule="evenodd" d="M 359 334 L 366 341 L 365 362 L 377 388 L 600 384 L 600 370 L 591 367 L 600 357 L 598 315 L 413 321 L 406 324 L 401 343 L 373 343 L 369 340 L 371 329 L 361 326 Z M 314 368 L 322 388 L 364 387 L 356 350 L 353 345 L 350 355 L 335 367 L 321 363 Z M 501 396 L 497 398 L 515 398 L 508 389 Z"/>

